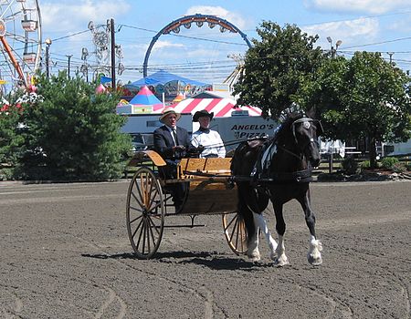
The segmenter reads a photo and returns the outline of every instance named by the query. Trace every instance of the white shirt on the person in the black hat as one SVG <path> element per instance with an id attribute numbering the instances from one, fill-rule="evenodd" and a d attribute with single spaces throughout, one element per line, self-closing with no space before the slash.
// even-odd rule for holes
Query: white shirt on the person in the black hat
<path id="1" fill-rule="evenodd" d="M 191 144 L 193 144 L 195 148 L 199 145 L 204 146 L 204 150 L 200 154 L 200 159 L 204 159 L 211 154 L 215 154 L 219 158 L 226 157 L 226 148 L 224 147 L 220 134 L 218 134 L 216 130 L 210 129 L 208 133 L 202 130 L 195 131 L 192 135 Z"/>

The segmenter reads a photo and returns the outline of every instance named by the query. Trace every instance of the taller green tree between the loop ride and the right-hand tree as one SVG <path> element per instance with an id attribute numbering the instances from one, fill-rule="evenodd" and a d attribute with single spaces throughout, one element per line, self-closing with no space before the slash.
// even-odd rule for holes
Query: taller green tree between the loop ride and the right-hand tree
<path id="1" fill-rule="evenodd" d="M 264 21 L 257 32 L 261 39 L 248 49 L 234 93 L 238 104 L 258 106 L 264 116 L 279 118 L 297 102 L 301 85 L 313 79 L 324 55 L 314 48 L 318 36 L 307 36 L 297 26 Z"/>

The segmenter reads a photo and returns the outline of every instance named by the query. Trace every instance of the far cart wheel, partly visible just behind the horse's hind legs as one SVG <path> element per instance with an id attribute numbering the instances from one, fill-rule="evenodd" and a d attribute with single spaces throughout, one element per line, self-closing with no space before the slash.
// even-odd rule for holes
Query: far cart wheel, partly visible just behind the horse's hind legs
<path id="1" fill-rule="evenodd" d="M 235 213 L 223 214 L 224 234 L 228 242 L 228 246 L 237 255 L 247 252 L 247 231 L 246 223 L 243 217 Z"/>

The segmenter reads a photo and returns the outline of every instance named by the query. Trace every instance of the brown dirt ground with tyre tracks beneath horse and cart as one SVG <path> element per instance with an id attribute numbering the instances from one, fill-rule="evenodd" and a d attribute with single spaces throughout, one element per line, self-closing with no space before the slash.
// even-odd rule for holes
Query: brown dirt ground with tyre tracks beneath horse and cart
<path id="1" fill-rule="evenodd" d="M 312 183 L 323 264 L 307 262 L 290 202 L 283 268 L 265 242 L 258 263 L 231 252 L 219 215 L 167 228 L 153 260 L 134 258 L 127 187 L 0 183 L 1 318 L 411 318 L 410 180 Z"/>

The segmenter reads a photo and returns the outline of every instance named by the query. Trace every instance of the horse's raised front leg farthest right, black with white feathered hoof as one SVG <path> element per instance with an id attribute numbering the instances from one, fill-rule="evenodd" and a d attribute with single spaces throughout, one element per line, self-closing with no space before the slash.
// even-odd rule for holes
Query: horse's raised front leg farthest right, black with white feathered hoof
<path id="1" fill-rule="evenodd" d="M 315 214 L 311 210 L 311 196 L 310 189 L 305 193 L 305 196 L 300 200 L 302 210 L 305 214 L 305 222 L 310 230 L 310 248 L 307 253 L 307 260 L 314 266 L 321 265 L 322 257 L 322 243 L 317 239 L 315 235 Z"/>

